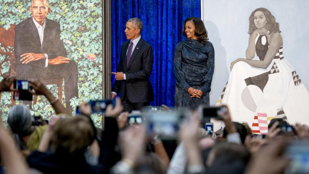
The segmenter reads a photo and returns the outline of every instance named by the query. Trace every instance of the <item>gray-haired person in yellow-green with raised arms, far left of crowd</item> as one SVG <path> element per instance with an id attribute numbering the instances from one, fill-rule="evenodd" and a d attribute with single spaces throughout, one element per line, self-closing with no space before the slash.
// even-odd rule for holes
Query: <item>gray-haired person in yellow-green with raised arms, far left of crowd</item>
<path id="1" fill-rule="evenodd" d="M 15 77 L 9 76 L 8 74 L 3 75 L 3 80 L 0 81 L 0 93 L 5 91 L 16 91 L 17 89 L 11 89 Z M 46 88 L 40 80 L 28 80 L 29 85 L 35 90 L 29 90 L 30 93 L 36 95 L 44 95 L 57 114 L 68 114 L 66 108 L 61 102 Z M 22 151 L 24 156 L 27 156 L 30 151 L 36 150 L 39 146 L 41 137 L 47 129 L 46 122 L 40 118 L 36 125 L 33 126 L 34 118 L 31 116 L 30 111 L 25 105 L 15 105 L 11 108 L 7 124 L 14 134 L 14 139 L 19 149 Z M 43 126 L 40 126 L 43 125 Z"/>

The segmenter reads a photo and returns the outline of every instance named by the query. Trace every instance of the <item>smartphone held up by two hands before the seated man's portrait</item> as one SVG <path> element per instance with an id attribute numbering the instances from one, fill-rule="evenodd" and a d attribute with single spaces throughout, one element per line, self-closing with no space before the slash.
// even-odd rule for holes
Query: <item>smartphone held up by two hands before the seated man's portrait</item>
<path id="1" fill-rule="evenodd" d="M 28 91 L 32 90 L 28 80 L 14 80 L 14 100 L 32 100 L 33 95 Z"/>

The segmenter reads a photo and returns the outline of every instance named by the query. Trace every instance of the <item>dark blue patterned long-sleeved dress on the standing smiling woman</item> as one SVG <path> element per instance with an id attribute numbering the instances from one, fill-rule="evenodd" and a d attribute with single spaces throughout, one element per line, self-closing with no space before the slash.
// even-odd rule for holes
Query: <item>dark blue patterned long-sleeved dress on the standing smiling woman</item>
<path id="1" fill-rule="evenodd" d="M 201 43 L 188 39 L 179 42 L 174 56 L 176 80 L 175 104 L 177 108 L 196 109 L 199 105 L 209 106 L 209 92 L 214 74 L 214 46 L 210 41 Z M 203 92 L 201 98 L 190 98 L 188 88 Z"/>

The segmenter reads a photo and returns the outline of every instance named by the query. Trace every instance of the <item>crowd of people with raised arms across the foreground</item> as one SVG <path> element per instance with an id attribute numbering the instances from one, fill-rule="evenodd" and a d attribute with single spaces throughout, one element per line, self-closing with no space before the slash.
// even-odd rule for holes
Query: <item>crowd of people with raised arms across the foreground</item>
<path id="1" fill-rule="evenodd" d="M 10 89 L 13 81 L 14 77 L 6 76 L 0 91 L 14 90 Z M 208 134 L 195 111 L 180 123 L 173 140 L 177 147 L 171 150 L 167 143 L 171 140 L 147 134 L 145 124 L 127 124 L 129 113 L 122 112 L 120 98 L 106 108 L 102 130 L 91 120 L 89 103 L 79 106 L 79 116 L 71 116 L 39 80 L 29 82 L 32 93 L 47 97 L 57 115 L 48 124 L 41 119 L 34 126 L 27 106 L 11 108 L 8 127 L 0 124 L 0 173 L 308 172 L 305 159 L 297 163 L 293 158 L 293 153 L 306 152 L 297 147 L 309 138 L 307 125 L 290 126 L 285 120 L 273 119 L 266 136 L 252 134 L 248 124 L 232 122 L 228 108 L 222 106 L 225 109 L 218 113 L 225 123 L 222 133 Z M 287 127 L 293 129 L 283 129 Z M 299 150 L 291 153 L 295 147 Z"/>

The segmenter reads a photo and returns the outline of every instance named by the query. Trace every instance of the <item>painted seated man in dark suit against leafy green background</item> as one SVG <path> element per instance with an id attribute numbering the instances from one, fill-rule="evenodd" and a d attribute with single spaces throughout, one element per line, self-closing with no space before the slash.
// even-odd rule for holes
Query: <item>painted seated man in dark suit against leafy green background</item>
<path id="1" fill-rule="evenodd" d="M 74 60 L 66 58 L 60 24 L 45 19 L 50 12 L 48 0 L 32 0 L 29 10 L 32 17 L 15 27 L 16 78 L 64 78 L 66 108 L 72 111 L 70 99 L 78 97 L 78 69 Z"/>

